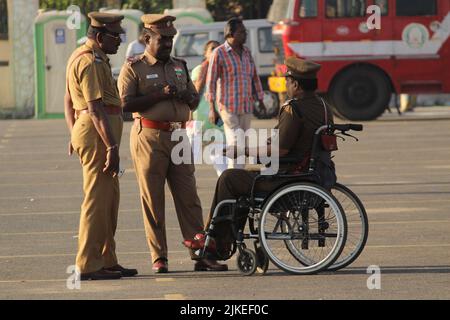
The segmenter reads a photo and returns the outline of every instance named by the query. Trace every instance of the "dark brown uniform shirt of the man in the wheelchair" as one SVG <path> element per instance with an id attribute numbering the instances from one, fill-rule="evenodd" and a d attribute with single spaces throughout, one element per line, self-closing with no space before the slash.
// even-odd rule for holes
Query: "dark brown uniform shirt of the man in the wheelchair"
<path id="1" fill-rule="evenodd" d="M 294 110 L 297 105 L 298 115 Z M 333 114 L 328 106 L 328 124 L 333 123 Z M 307 93 L 303 97 L 290 100 L 280 110 L 279 129 L 280 149 L 289 150 L 288 157 L 303 159 L 312 151 L 315 131 L 325 124 L 325 109 L 320 97 Z"/>

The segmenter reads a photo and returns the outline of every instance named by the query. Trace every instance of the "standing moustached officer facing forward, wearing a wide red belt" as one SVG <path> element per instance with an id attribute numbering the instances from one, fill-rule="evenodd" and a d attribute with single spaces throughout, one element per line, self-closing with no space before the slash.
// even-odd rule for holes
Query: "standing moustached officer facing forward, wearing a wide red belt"
<path id="1" fill-rule="evenodd" d="M 130 147 L 141 193 L 141 204 L 153 270 L 168 272 L 164 186 L 167 180 L 185 239 L 203 230 L 194 165 L 175 164 L 171 141 L 174 130 L 184 129 L 199 95 L 189 78 L 186 63 L 170 56 L 175 17 L 147 14 L 142 17 L 145 53 L 121 70 L 118 86 L 124 111 L 133 112 Z M 184 139 L 187 139 L 184 134 Z M 188 140 L 185 140 L 188 141 Z M 191 253 L 191 257 L 195 256 Z M 202 259 L 195 270 L 225 270 L 215 261 Z"/>

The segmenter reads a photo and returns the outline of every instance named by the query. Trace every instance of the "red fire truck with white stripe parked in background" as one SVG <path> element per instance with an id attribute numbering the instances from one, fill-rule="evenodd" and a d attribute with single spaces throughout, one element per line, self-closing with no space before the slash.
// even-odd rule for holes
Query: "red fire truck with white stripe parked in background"
<path id="1" fill-rule="evenodd" d="M 377 5 L 380 29 L 371 29 Z M 372 120 L 392 93 L 450 92 L 450 0 L 274 0 L 277 62 L 272 91 L 285 91 L 284 57 L 322 65 L 319 91 L 338 114 Z M 372 17 L 372 19 L 371 19 Z"/>

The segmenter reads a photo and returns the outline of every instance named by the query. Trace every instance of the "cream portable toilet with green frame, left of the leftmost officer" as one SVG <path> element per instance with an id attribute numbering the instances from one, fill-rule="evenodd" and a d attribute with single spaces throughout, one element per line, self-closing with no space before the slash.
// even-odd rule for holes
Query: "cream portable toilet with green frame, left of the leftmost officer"
<path id="1" fill-rule="evenodd" d="M 36 57 L 36 117 L 63 118 L 66 65 L 86 35 L 86 19 L 81 15 L 78 29 L 69 28 L 66 11 L 41 12 L 34 24 Z"/>

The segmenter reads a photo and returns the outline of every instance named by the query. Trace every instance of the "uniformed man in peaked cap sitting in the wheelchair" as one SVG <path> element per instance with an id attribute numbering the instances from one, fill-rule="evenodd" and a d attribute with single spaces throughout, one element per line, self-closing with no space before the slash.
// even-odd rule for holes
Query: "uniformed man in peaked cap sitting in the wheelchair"
<path id="1" fill-rule="evenodd" d="M 330 108 L 315 93 L 317 72 L 321 66 L 312 61 L 294 57 L 287 58 L 285 63 L 288 67 L 286 74 L 287 94 L 291 99 L 281 107 L 279 121 L 275 129 L 279 130 L 279 156 L 298 159 L 297 164 L 281 165 L 280 170 L 293 173 L 308 168 L 314 133 L 325 123 L 333 123 L 333 115 Z M 272 148 L 275 148 L 275 146 L 271 146 L 269 142 L 267 146 L 259 147 L 258 151 L 245 148 L 245 153 L 247 156 L 256 154 L 256 152 L 270 155 Z M 234 150 L 234 154 L 238 155 L 237 150 Z M 226 199 L 249 196 L 253 180 L 259 174 L 259 171 L 226 170 L 217 182 L 206 226 L 209 226 L 218 203 Z M 255 191 L 270 191 L 284 182 L 283 180 L 258 182 Z"/>

